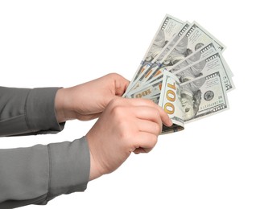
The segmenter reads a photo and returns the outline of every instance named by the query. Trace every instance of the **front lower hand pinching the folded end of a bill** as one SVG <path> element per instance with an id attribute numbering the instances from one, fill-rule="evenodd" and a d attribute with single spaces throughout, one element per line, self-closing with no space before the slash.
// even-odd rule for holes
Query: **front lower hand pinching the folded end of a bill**
<path id="1" fill-rule="evenodd" d="M 86 135 L 91 159 L 90 180 L 116 170 L 132 152 L 151 151 L 163 124 L 172 125 L 167 113 L 151 100 L 111 100 Z"/>

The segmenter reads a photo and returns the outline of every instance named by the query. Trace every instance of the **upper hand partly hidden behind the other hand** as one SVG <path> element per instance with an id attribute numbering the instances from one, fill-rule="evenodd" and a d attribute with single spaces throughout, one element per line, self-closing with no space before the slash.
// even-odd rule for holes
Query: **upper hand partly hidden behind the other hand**
<path id="1" fill-rule="evenodd" d="M 110 100 L 122 96 L 128 84 L 128 80 L 112 73 L 85 84 L 60 88 L 55 101 L 57 121 L 88 121 L 99 117 Z"/>

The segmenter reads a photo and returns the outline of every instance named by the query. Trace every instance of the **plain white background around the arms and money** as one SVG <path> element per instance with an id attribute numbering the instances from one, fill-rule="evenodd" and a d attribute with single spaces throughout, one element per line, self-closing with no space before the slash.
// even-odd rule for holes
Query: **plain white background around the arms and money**
<path id="1" fill-rule="evenodd" d="M 228 111 L 160 136 L 150 154 L 132 154 L 84 193 L 43 208 L 256 208 L 252 2 L 1 1 L 2 86 L 69 87 L 109 72 L 131 79 L 166 13 L 196 20 L 221 40 L 234 74 Z M 54 135 L 3 137 L 0 148 L 72 141 L 94 122 L 68 121 Z"/>

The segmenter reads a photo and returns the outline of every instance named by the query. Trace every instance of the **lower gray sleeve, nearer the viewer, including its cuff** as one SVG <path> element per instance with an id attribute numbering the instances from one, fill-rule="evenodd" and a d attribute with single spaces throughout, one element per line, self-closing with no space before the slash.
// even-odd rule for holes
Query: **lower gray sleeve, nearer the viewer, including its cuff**
<path id="1" fill-rule="evenodd" d="M 46 204 L 58 195 L 85 191 L 89 158 L 85 137 L 0 150 L 0 208 Z"/>

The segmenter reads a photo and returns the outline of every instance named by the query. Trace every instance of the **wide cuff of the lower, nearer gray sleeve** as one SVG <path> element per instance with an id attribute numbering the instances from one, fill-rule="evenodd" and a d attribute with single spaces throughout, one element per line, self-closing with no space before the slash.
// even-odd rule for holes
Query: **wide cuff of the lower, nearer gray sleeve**
<path id="1" fill-rule="evenodd" d="M 90 154 L 85 137 L 48 145 L 50 180 L 47 201 L 62 194 L 85 191 L 89 182 Z"/>

